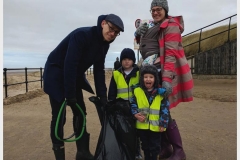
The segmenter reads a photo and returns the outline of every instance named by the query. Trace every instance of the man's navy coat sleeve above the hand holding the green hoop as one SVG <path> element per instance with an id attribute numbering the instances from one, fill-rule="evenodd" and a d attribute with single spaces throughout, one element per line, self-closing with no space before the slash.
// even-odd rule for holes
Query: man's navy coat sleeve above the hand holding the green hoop
<path id="1" fill-rule="evenodd" d="M 77 66 L 83 54 L 84 34 L 82 32 L 70 35 L 68 49 L 64 60 L 65 98 L 76 97 Z"/>

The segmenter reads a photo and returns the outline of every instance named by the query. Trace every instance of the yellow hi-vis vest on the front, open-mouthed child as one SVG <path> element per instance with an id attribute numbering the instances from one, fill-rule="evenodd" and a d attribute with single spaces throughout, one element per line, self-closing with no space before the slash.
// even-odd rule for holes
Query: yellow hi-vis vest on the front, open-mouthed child
<path id="1" fill-rule="evenodd" d="M 157 94 L 150 106 L 144 91 L 140 87 L 134 89 L 134 95 L 137 100 L 138 111 L 148 113 L 145 122 L 136 121 L 136 128 L 159 132 L 160 106 L 163 97 Z"/>

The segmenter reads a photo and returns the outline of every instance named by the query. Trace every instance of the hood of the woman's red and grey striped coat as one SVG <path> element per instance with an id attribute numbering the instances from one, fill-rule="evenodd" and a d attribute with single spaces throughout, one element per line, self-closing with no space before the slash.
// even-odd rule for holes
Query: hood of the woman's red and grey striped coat
<path id="1" fill-rule="evenodd" d="M 183 33 L 184 22 L 182 16 L 168 16 L 168 18 L 162 22 L 160 28 L 166 28 L 168 26 L 168 23 L 176 23 L 179 26 L 181 33 Z"/>

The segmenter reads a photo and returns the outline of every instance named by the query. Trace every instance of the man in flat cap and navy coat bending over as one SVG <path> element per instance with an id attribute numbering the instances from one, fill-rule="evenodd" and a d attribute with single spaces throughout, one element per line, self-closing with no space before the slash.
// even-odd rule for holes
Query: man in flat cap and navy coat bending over
<path id="1" fill-rule="evenodd" d="M 124 32 L 121 18 L 115 14 L 100 15 L 96 26 L 81 27 L 69 33 L 49 54 L 43 74 L 44 92 L 49 95 L 51 104 L 52 150 L 56 160 L 65 160 L 64 142 L 55 137 L 54 130 L 61 105 L 66 100 L 73 112 L 74 132 L 79 136 L 81 129 L 76 124 L 83 124 L 83 115 L 76 106 L 79 104 L 84 114 L 86 106 L 82 89 L 94 94 L 85 72 L 93 65 L 96 95 L 101 104 L 107 103 L 104 63 L 110 44 Z M 62 117 L 63 120 L 66 118 Z M 64 125 L 64 124 L 63 124 Z M 63 139 L 63 125 L 58 127 L 58 136 Z M 82 126 L 80 126 L 82 128 Z M 82 137 L 76 141 L 76 160 L 93 160 L 89 151 L 90 134 L 86 126 Z"/>

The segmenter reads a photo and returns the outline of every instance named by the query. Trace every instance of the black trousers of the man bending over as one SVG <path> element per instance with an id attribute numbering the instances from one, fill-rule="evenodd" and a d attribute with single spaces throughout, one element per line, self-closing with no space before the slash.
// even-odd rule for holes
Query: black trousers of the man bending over
<path id="1" fill-rule="evenodd" d="M 58 140 L 55 136 L 55 126 L 56 126 L 56 122 L 57 122 L 58 113 L 59 113 L 59 110 L 62 106 L 62 103 L 64 102 L 64 99 L 61 102 L 56 101 L 51 96 L 49 96 L 49 99 L 50 99 L 50 104 L 51 104 L 51 108 L 52 108 L 52 120 L 51 120 L 51 125 L 50 125 L 50 137 L 51 137 L 51 140 L 52 140 L 53 144 L 63 145 L 64 142 Z M 76 99 L 77 99 L 77 103 L 79 104 L 79 106 L 83 110 L 84 114 L 87 115 L 86 106 L 85 106 L 85 103 L 83 101 L 82 90 L 77 91 Z M 79 115 L 78 122 L 79 122 L 79 124 L 82 125 L 83 116 L 82 116 L 82 114 L 77 114 L 77 115 Z M 73 123 L 76 121 L 76 117 L 77 117 L 76 113 L 73 113 Z M 61 125 L 62 121 L 63 121 L 63 125 Z M 64 126 L 65 123 L 66 123 L 66 114 L 61 117 L 61 119 L 59 121 L 59 125 L 58 125 L 58 136 L 61 139 L 63 139 L 63 136 L 64 136 L 63 126 Z M 82 127 L 80 127 L 80 129 L 78 131 L 76 131 L 74 126 L 73 126 L 73 128 L 74 128 L 73 130 L 76 132 L 76 135 L 79 135 L 81 133 L 81 128 Z M 86 132 L 86 128 L 85 128 L 85 132 Z"/>

